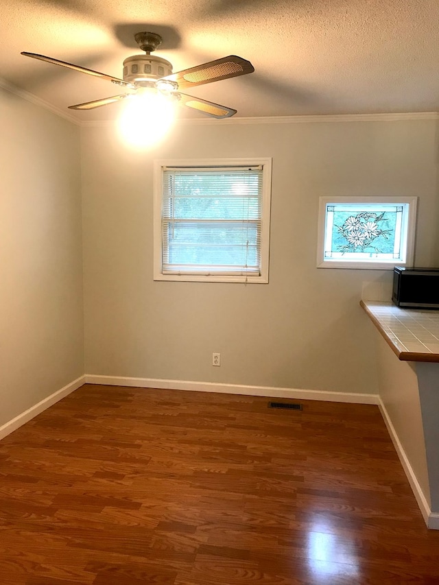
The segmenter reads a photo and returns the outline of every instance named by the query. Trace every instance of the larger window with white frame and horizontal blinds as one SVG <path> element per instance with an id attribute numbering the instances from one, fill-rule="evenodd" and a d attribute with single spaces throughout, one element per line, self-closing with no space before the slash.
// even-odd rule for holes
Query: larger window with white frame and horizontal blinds
<path id="1" fill-rule="evenodd" d="M 157 160 L 154 280 L 268 283 L 271 159 Z"/>

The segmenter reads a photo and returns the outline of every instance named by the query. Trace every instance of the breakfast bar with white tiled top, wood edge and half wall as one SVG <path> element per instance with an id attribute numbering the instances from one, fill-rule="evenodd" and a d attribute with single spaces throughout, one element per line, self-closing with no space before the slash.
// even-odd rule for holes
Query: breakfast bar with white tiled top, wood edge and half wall
<path id="1" fill-rule="evenodd" d="M 439 311 L 361 306 L 376 326 L 383 418 L 425 523 L 439 529 Z"/>

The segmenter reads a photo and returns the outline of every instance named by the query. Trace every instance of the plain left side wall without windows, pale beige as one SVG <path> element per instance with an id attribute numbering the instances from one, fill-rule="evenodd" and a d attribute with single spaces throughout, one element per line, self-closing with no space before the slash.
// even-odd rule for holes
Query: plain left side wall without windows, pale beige
<path id="1" fill-rule="evenodd" d="M 80 131 L 0 88 L 0 425 L 84 373 Z"/>

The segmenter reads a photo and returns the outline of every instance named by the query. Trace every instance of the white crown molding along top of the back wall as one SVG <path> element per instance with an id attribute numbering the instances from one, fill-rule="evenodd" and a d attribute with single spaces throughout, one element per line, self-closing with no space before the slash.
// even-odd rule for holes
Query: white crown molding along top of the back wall
<path id="1" fill-rule="evenodd" d="M 215 119 L 177 119 L 176 124 L 183 126 L 211 126 L 215 125 L 233 125 L 236 124 L 298 124 L 298 123 L 322 123 L 322 122 L 390 122 L 390 121 L 407 121 L 407 120 L 438 120 L 439 112 L 401 112 L 386 114 L 322 114 L 322 115 L 303 115 L 303 116 L 266 116 L 266 117 L 249 117 L 249 118 L 226 118 L 224 120 Z M 80 121 L 80 126 L 88 127 L 105 127 L 110 126 L 114 120 L 89 120 Z"/>

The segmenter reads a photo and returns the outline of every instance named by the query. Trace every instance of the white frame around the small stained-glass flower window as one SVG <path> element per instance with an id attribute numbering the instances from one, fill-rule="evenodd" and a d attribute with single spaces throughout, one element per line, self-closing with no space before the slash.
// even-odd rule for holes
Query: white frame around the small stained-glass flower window
<path id="1" fill-rule="evenodd" d="M 360 270 L 393 270 L 394 266 L 411 266 L 414 263 L 414 243 L 416 230 L 417 197 L 320 197 L 318 215 L 318 268 L 355 268 Z M 403 254 L 401 260 L 396 259 L 350 259 L 327 258 L 324 256 L 325 239 L 327 237 L 327 206 L 331 204 L 392 204 L 405 205 L 407 213 L 403 213 L 401 238 Z M 405 252 L 404 252 L 405 250 Z"/>

